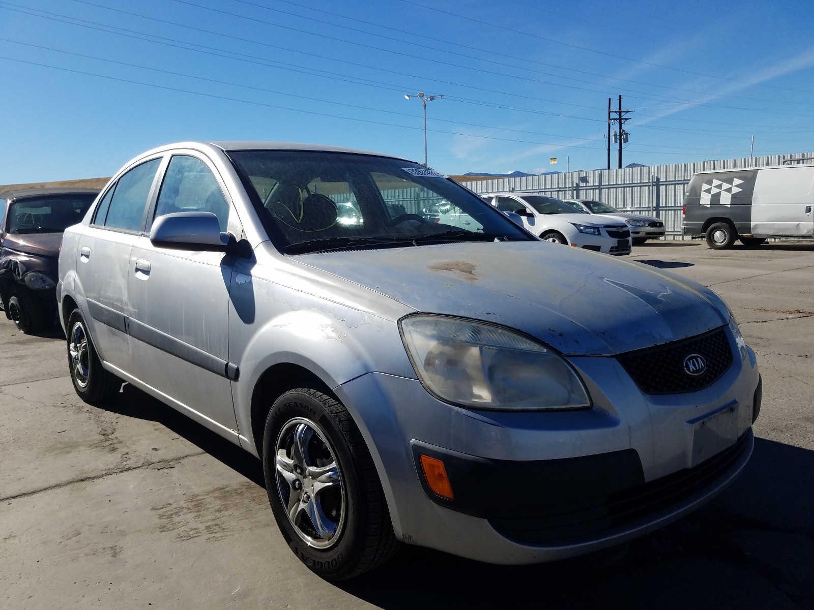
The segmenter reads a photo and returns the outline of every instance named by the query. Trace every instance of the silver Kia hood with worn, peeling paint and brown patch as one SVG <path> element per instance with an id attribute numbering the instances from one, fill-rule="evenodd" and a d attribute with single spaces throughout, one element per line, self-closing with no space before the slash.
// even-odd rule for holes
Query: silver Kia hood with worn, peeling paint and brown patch
<path id="1" fill-rule="evenodd" d="M 547 242 L 467 242 L 296 258 L 418 312 L 509 326 L 570 355 L 615 355 L 729 321 L 720 298 L 693 281 Z"/>

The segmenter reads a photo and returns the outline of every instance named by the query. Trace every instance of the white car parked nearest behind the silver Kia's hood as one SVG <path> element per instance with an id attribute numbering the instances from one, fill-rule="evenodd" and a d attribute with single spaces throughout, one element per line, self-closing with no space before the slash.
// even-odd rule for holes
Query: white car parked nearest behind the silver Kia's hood
<path id="1" fill-rule="evenodd" d="M 615 256 L 630 254 L 630 229 L 620 220 L 589 217 L 555 197 L 519 193 L 480 195 L 498 210 L 519 215 L 523 227 L 546 242 Z"/>

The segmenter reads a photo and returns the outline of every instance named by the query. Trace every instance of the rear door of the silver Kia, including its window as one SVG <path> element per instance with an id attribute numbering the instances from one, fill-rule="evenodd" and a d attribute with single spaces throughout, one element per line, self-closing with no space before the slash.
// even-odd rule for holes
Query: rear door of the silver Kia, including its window
<path id="1" fill-rule="evenodd" d="M 85 320 L 102 359 L 127 373 L 133 364 L 125 322 L 130 249 L 144 228 L 160 163 L 161 157 L 149 159 L 122 174 L 79 237 L 77 294 L 84 294 Z"/>

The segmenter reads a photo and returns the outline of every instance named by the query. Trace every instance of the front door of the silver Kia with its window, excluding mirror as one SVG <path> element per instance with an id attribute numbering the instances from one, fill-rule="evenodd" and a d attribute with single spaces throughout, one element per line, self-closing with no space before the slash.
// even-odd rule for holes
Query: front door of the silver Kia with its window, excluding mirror
<path id="1" fill-rule="evenodd" d="M 211 211 L 221 232 L 240 237 L 240 221 L 217 170 L 198 153 L 173 154 L 143 236 L 133 242 L 128 290 L 136 376 L 221 434 L 237 429 L 229 364 L 229 289 L 234 255 L 154 246 L 155 218 Z"/>

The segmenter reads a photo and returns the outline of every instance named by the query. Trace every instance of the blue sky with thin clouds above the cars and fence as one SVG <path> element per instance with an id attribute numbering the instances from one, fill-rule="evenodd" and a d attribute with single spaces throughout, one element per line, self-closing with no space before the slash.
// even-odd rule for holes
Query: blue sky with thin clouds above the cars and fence
<path id="1" fill-rule="evenodd" d="M 804 0 L 0 0 L 0 184 L 185 140 L 421 162 L 418 91 L 445 96 L 448 174 L 604 168 L 619 94 L 625 164 L 811 151 L 812 24 Z"/>

